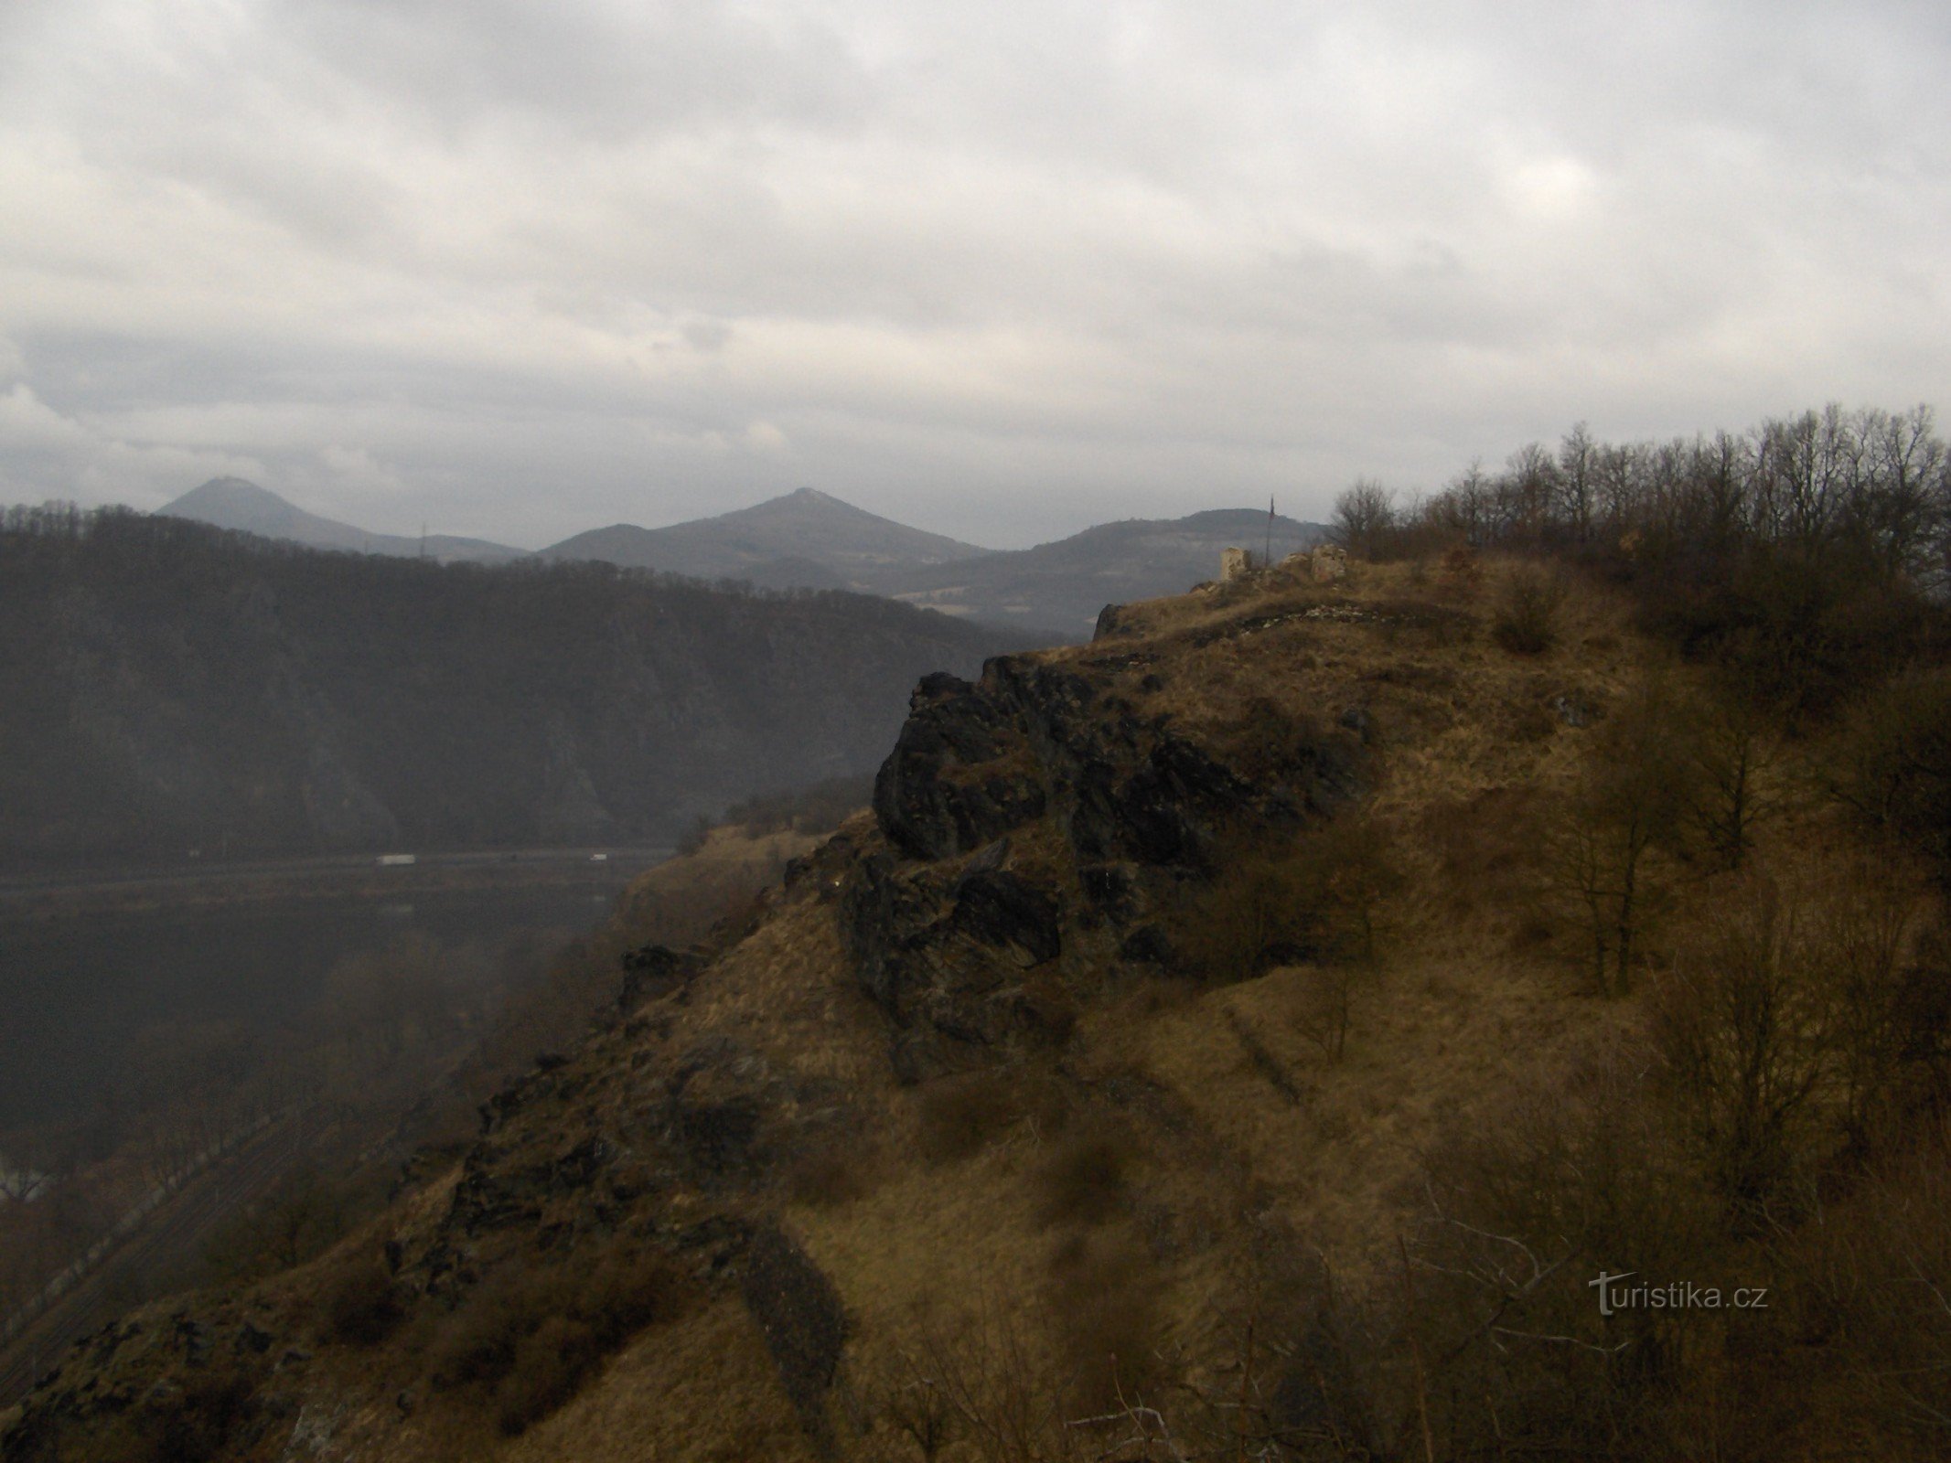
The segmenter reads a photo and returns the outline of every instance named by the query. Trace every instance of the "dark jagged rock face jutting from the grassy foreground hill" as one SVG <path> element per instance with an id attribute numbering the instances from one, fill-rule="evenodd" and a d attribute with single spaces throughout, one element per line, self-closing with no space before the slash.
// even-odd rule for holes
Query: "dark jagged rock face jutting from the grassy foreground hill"
<path id="1" fill-rule="evenodd" d="M 1208 874 L 1227 833 L 1299 825 L 1358 788 L 1358 745 L 1336 735 L 1295 733 L 1272 776 L 1247 776 L 1061 663 L 1003 655 L 974 683 L 925 679 L 874 784 L 888 849 L 847 868 L 841 899 L 896 1069 L 919 1079 L 1048 1036 L 1038 979 L 1073 977 L 1065 952 L 1106 927 L 1124 958 L 1169 960 L 1145 925 L 1163 890 Z M 1016 856 L 1032 827 L 1059 835 L 1065 874 Z"/>

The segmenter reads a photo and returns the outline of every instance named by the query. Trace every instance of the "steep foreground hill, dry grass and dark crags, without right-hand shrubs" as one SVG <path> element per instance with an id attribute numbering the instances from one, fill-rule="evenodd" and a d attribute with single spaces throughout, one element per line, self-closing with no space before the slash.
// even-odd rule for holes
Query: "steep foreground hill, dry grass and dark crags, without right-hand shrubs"
<path id="1" fill-rule="evenodd" d="M 1436 1174 L 1633 1040 L 1520 813 L 1651 652 L 1598 595 L 1510 655 L 1483 593 L 1264 575 L 923 679 L 872 813 L 759 911 L 634 954 L 355 1241 L 96 1336 L 6 1457 L 1169 1457 L 1153 1399 L 1420 1457 L 1471 1387 L 1487 1430 L 1559 1416 L 1604 1336 L 1553 1313 L 1586 1350 L 1533 1387 L 1498 1326 L 1584 1274 L 1489 1235 L 1473 1311 Z"/>

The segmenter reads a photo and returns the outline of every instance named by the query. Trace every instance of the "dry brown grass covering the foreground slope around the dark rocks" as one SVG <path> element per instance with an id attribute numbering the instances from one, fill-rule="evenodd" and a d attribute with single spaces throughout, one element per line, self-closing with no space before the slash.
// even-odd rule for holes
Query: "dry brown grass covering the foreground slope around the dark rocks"
<path id="1" fill-rule="evenodd" d="M 213 1334 L 252 1317 L 304 1338 L 291 1379 L 256 1381 L 295 1420 L 234 1455 L 312 1438 L 318 1457 L 406 1463 L 1135 1459 L 1171 1457 L 1161 1430 L 1175 1428 L 1186 1455 L 1420 1457 L 1428 1430 L 1432 1455 L 1459 1459 L 1658 1457 L 1690 1436 L 1701 1455 L 1762 1457 L 1740 1418 L 1768 1408 L 1783 1447 L 1768 1455 L 1851 1455 L 1758 1391 L 1781 1365 L 1887 1455 L 1928 1457 L 1928 1426 L 1865 1420 L 1818 1362 L 1742 1350 L 1781 1346 L 1775 1332 L 1719 1315 L 1608 1332 L 1580 1309 L 1582 1266 L 1612 1258 L 1594 1246 L 1617 1243 L 1623 1262 L 1658 1241 L 1666 1260 L 1693 1254 L 1729 1278 L 1777 1254 L 1717 1217 L 1729 1194 L 1699 1178 L 1705 1139 L 1688 1110 L 1649 1096 L 1645 1071 L 1734 880 L 1766 870 L 1781 888 L 1826 888 L 1834 850 L 1857 835 L 1809 792 L 1824 745 L 1781 745 L 1746 870 L 1725 870 L 1676 802 L 1633 845 L 1629 907 L 1600 891 L 1612 903 L 1594 915 L 1600 893 L 1565 874 L 1582 800 L 1649 726 L 1699 745 L 1682 728 L 1715 692 L 1633 630 L 1621 597 L 1532 575 L 1469 560 L 1358 564 L 1331 585 L 1266 573 L 1128 607 L 1114 638 L 1042 653 L 1100 702 L 1235 767 L 1278 761 L 1295 735 L 1358 749 L 1364 792 L 1338 817 L 1364 821 L 1389 878 L 1350 893 L 1325 882 L 1348 856 L 1317 860 L 1327 874 L 1276 886 L 1325 901 L 1307 911 L 1315 923 L 1274 921 L 1278 938 L 1233 930 L 1253 958 L 1227 975 L 1067 938 L 1038 975 L 1067 1012 L 1057 1036 L 913 1083 L 890 1063 L 888 1014 L 841 925 L 843 882 L 884 849 L 856 817 L 722 930 L 726 948 L 535 1075 L 460 1166 L 312 1268 L 201 1303 Z M 1612 837 L 1615 819 L 1592 827 Z M 1301 858 L 1331 831 L 1235 829 L 1227 849 Z M 1011 835 L 1007 868 L 1073 890 L 1067 849 L 1046 815 Z M 1877 858 L 1881 882 L 1906 891 L 1887 940 L 1894 971 L 1922 948 L 1930 895 L 1902 858 Z M 663 876 L 677 878 L 712 874 L 697 862 Z M 1247 919 L 1239 901 L 1212 903 L 1217 886 L 1188 878 L 1178 917 Z M 1818 905 L 1809 921 L 1828 919 Z M 1309 944 L 1321 921 L 1338 932 Z M 1615 940 L 1625 925 L 1629 946 Z M 1594 929 L 1613 940 L 1598 983 Z M 1329 987 L 1344 1020 L 1333 1042 Z M 1822 1087 L 1797 1122 L 1828 1122 L 1828 1102 Z M 603 1172 L 562 1178 L 585 1153 Z M 1789 1217 L 1805 1190 L 1775 1178 L 1773 1233 L 1814 1243 Z M 1851 1202 L 1840 1180 L 1820 1182 Z M 1471 1215 L 1532 1227 L 1493 1235 Z M 845 1313 L 821 1323 L 823 1340 L 804 1319 L 817 1295 L 767 1299 L 724 1280 L 773 1243 L 790 1256 L 782 1274 L 817 1276 L 808 1284 Z M 601 1274 L 593 1256 L 648 1254 L 683 1299 L 628 1325 L 605 1323 L 577 1289 L 587 1282 L 570 1282 Z M 336 1291 L 322 1332 L 320 1295 L 345 1274 L 382 1285 L 382 1301 Z M 513 1334 L 499 1377 L 457 1377 L 455 1356 L 488 1354 L 457 1352 L 457 1319 L 533 1276 L 560 1282 L 496 1321 L 498 1338 Z M 398 1317 L 396 1293 L 412 1297 Z M 1502 1301 L 1487 1309 L 1487 1295 Z M 1541 1340 L 1547 1321 L 1576 1340 Z M 166 1364 L 168 1323 L 144 1325 L 150 1342 L 98 1364 L 107 1385 Z M 1625 1340 L 1608 1352 L 1613 1336 Z M 544 1340 L 548 1365 L 533 1356 Z M 501 1397 L 523 1365 L 533 1375 Z M 1586 1406 L 1617 1416 L 1600 1426 Z M 1085 1418 L 1096 1422 L 1069 1426 Z"/>

